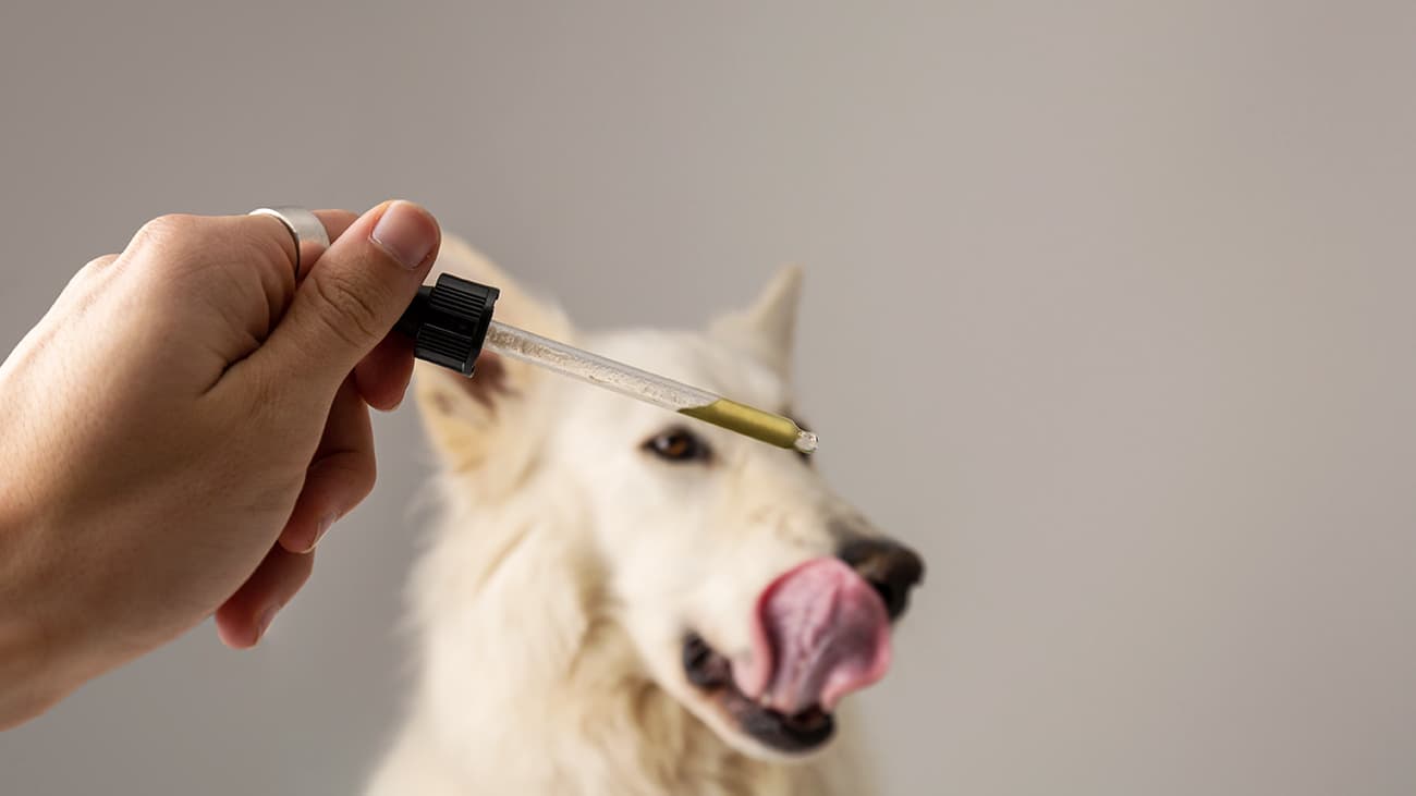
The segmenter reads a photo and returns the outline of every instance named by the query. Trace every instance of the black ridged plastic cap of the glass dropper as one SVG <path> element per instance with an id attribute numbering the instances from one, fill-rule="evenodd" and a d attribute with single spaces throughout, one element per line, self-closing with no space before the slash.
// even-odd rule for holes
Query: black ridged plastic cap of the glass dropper
<path id="1" fill-rule="evenodd" d="M 501 290 L 442 273 L 418 290 L 394 327 L 413 339 L 419 360 L 472 375 Z"/>

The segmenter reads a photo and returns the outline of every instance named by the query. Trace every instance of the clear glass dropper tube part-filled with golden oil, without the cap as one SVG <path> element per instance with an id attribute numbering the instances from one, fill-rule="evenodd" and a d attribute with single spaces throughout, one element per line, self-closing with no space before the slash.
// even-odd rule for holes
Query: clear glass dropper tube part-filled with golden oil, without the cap
<path id="1" fill-rule="evenodd" d="M 497 320 L 487 326 L 483 346 L 490 351 L 549 368 L 777 448 L 796 449 L 801 453 L 811 453 L 817 448 L 816 435 L 803 431 L 790 418 L 763 412 L 707 390 L 616 363 Z"/>

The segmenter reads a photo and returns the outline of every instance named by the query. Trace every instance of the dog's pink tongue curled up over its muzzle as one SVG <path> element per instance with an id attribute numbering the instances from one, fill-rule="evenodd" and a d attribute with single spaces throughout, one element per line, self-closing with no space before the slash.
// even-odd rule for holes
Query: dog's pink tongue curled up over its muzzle
<path id="1" fill-rule="evenodd" d="M 830 711 L 889 669 L 889 616 L 875 589 L 837 558 L 777 578 L 758 601 L 752 660 L 738 688 L 786 715 Z"/>

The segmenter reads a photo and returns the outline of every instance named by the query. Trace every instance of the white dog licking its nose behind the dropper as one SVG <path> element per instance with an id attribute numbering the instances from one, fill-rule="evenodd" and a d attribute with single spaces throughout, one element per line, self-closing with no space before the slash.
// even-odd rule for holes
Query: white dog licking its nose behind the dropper
<path id="1" fill-rule="evenodd" d="M 496 317 L 790 414 L 801 272 L 705 331 L 582 334 L 449 237 Z M 923 564 L 809 457 L 483 354 L 419 363 L 440 521 L 411 578 L 411 708 L 372 796 L 869 793 L 838 708 Z"/>

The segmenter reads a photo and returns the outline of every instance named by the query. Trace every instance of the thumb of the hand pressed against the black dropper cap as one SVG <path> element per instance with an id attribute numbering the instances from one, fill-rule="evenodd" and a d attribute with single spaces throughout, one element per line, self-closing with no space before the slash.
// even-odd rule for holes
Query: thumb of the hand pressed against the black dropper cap
<path id="1" fill-rule="evenodd" d="M 249 357 L 276 394 L 314 391 L 324 402 L 398 323 L 438 255 L 442 234 L 422 207 L 384 203 L 314 262 L 275 330 Z"/>

